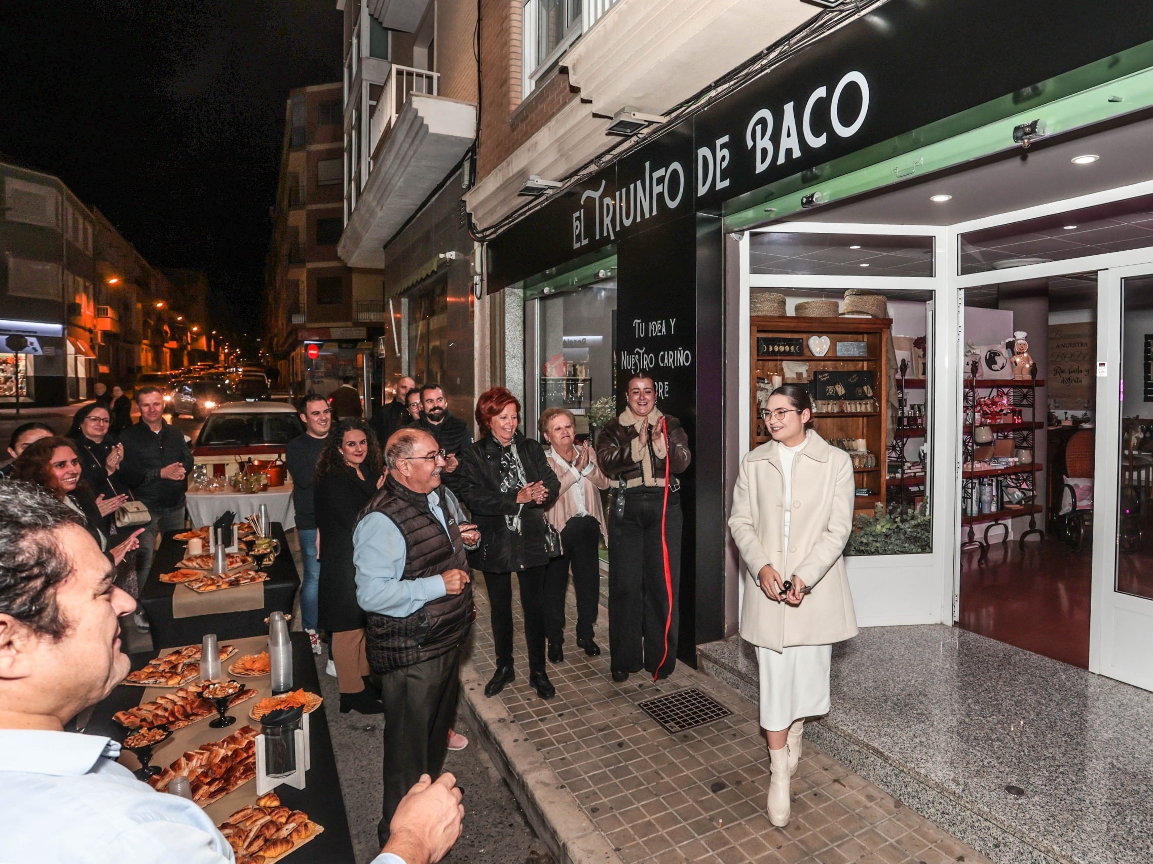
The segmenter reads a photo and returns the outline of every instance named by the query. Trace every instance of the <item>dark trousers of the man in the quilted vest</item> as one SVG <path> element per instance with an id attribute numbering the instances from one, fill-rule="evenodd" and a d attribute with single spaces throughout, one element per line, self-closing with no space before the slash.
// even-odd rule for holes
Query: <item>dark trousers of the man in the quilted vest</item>
<path id="1" fill-rule="evenodd" d="M 380 846 L 397 805 L 421 774 L 434 780 L 449 750 L 457 717 L 460 652 L 425 660 L 380 676 L 384 703 L 384 805 L 376 826 Z"/>

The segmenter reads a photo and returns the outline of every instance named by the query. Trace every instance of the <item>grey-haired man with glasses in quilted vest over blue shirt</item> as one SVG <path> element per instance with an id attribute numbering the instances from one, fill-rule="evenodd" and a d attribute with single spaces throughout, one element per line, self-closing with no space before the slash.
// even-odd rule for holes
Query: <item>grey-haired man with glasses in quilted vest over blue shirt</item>
<path id="1" fill-rule="evenodd" d="M 353 533 L 356 601 L 364 609 L 366 651 L 384 702 L 384 806 L 377 834 L 421 774 L 440 773 L 457 711 L 460 647 L 475 617 L 460 525 L 440 486 L 444 450 L 419 429 L 385 446 L 389 478 Z"/>

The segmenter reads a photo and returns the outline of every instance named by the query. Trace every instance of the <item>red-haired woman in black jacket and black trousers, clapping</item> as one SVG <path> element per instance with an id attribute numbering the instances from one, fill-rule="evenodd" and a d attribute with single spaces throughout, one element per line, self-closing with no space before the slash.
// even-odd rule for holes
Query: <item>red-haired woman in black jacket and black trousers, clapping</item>
<path id="1" fill-rule="evenodd" d="M 497 668 L 484 687 L 496 696 L 515 677 L 512 661 L 512 577 L 520 581 L 528 643 L 528 683 L 542 699 L 556 688 L 544 669 L 544 577 L 549 564 L 544 510 L 560 493 L 560 480 L 549 468 L 544 449 L 518 432 L 520 402 L 504 387 L 476 400 L 480 440 L 460 458 L 457 494 L 473 514 L 481 545 L 468 555 L 484 573 L 492 614 Z"/>

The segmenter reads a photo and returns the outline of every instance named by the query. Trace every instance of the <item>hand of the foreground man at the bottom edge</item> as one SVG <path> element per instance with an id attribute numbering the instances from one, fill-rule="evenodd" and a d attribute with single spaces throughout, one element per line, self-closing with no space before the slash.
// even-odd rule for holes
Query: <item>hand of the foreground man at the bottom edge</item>
<path id="1" fill-rule="evenodd" d="M 460 836 L 465 805 L 457 778 L 445 772 L 434 783 L 428 774 L 400 799 L 389 823 L 391 836 L 382 852 L 404 858 L 405 864 L 435 864 Z"/>

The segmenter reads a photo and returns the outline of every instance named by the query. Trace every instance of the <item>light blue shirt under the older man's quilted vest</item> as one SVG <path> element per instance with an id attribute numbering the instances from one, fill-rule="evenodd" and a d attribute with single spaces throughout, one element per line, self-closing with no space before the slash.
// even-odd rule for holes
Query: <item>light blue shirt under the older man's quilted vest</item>
<path id="1" fill-rule="evenodd" d="M 428 495 L 429 508 L 449 531 L 436 492 Z M 323 540 L 322 540 L 323 541 Z M 383 513 L 370 513 L 353 532 L 353 563 L 356 566 L 356 602 L 366 612 L 407 617 L 421 606 L 444 597 L 439 574 L 420 579 L 401 579 L 408 547 L 397 523 Z"/>

